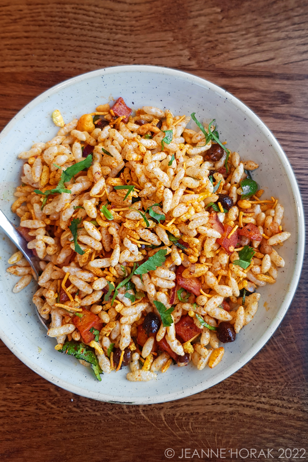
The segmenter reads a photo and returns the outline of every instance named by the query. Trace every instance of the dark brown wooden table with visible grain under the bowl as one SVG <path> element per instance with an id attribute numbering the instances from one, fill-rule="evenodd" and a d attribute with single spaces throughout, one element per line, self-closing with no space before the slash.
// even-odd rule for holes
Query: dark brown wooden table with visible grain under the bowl
<path id="1" fill-rule="evenodd" d="M 174 67 L 222 86 L 259 115 L 290 159 L 305 204 L 307 2 L 3 0 L 0 12 L 1 128 L 73 75 L 119 64 Z M 207 448 L 226 449 L 210 457 L 218 460 L 230 460 L 231 448 L 233 460 L 236 449 L 267 456 L 274 448 L 278 460 L 279 448 L 308 449 L 307 269 L 262 351 L 232 377 L 179 401 L 122 406 L 73 395 L 0 342 L 0 460 L 151 462 L 167 460 L 167 448 L 173 459 L 197 449 L 194 460 L 209 460 L 201 457 Z M 254 459 L 246 455 L 237 460 Z"/>

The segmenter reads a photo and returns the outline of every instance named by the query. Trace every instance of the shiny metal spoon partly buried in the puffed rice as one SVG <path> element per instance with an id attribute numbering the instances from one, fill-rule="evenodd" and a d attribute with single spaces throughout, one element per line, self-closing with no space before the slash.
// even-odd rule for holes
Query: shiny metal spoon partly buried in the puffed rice
<path id="1" fill-rule="evenodd" d="M 28 248 L 28 243 L 26 239 L 18 232 L 15 226 L 10 222 L 10 220 L 4 215 L 3 211 L 0 210 L 0 228 L 3 232 L 8 236 L 8 238 L 16 245 L 16 247 L 22 252 L 25 259 L 28 261 L 29 265 L 32 268 L 32 276 L 34 277 L 35 281 L 38 281 L 38 272 L 41 271 L 39 262 L 40 259 L 35 257 L 31 250 Z M 46 324 L 48 321 L 38 313 L 37 308 L 35 306 L 36 314 L 44 327 L 48 329 L 48 325 Z"/>

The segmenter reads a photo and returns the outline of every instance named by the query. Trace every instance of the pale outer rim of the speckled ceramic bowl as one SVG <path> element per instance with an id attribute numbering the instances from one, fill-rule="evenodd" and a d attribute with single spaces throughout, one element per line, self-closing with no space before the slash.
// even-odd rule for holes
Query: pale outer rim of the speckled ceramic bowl
<path id="1" fill-rule="evenodd" d="M 283 152 L 281 146 L 279 145 L 278 141 L 272 134 L 272 132 L 267 128 L 264 122 L 251 110 L 249 109 L 244 103 L 238 100 L 233 94 L 227 92 L 223 88 L 217 86 L 214 83 L 211 83 L 201 77 L 198 77 L 194 74 L 190 74 L 188 72 L 180 71 L 177 69 L 167 68 L 167 67 L 160 67 L 160 66 L 149 66 L 149 65 L 123 65 L 123 66 L 113 66 L 107 67 L 102 69 L 97 69 L 94 71 L 86 72 L 81 75 L 74 76 L 71 79 L 65 80 L 59 84 L 54 85 L 53 87 L 49 88 L 48 90 L 44 91 L 40 95 L 38 95 L 34 100 L 28 103 L 23 109 L 21 109 L 13 119 L 4 127 L 2 132 L 0 133 L 0 141 L 6 136 L 6 134 L 14 127 L 14 125 L 20 121 L 25 115 L 27 115 L 28 111 L 35 108 L 35 106 L 41 102 L 43 102 L 46 98 L 51 96 L 57 90 L 63 89 L 65 87 L 69 87 L 74 85 L 75 83 L 80 83 L 84 80 L 91 79 L 96 76 L 101 76 L 104 74 L 112 74 L 112 73 L 125 73 L 125 72 L 149 72 L 149 73 L 158 73 L 158 74 L 165 74 L 170 75 L 172 77 L 181 79 L 183 81 L 197 84 L 203 88 L 207 88 L 210 91 L 214 91 L 220 94 L 223 98 L 227 98 L 232 102 L 239 110 L 244 111 L 246 113 L 246 117 L 250 118 L 256 125 L 260 131 L 267 137 L 269 143 L 275 149 L 277 156 L 286 172 L 288 180 L 290 181 L 290 186 L 292 189 L 293 197 L 295 200 L 295 206 L 297 207 L 297 216 L 298 216 L 298 228 L 297 228 L 297 264 L 295 266 L 293 278 L 291 280 L 292 283 L 292 290 L 288 291 L 285 295 L 285 298 L 277 312 L 277 315 L 272 320 L 271 324 L 269 324 L 268 328 L 264 332 L 264 334 L 258 338 L 258 340 L 254 343 L 253 347 L 246 352 L 240 359 L 238 359 L 232 366 L 229 366 L 226 370 L 222 371 L 219 377 L 214 378 L 214 383 L 211 383 L 209 386 L 207 382 L 208 379 L 204 380 L 200 384 L 196 384 L 191 387 L 187 387 L 182 391 L 177 391 L 174 393 L 166 393 L 160 395 L 153 395 L 149 397 L 142 397 L 142 398 L 134 398 L 134 401 L 129 401 L 128 397 L 123 397 L 123 399 L 117 397 L 117 400 L 110 399 L 111 396 L 107 395 L 103 392 L 92 392 L 86 390 L 82 387 L 75 386 L 72 383 L 62 379 L 61 377 L 53 377 L 52 373 L 45 370 L 42 367 L 38 367 L 28 356 L 26 356 L 21 350 L 19 350 L 16 345 L 10 340 L 10 338 L 6 335 L 4 331 L 0 328 L 0 338 L 3 342 L 7 345 L 7 347 L 11 350 L 11 352 L 17 356 L 24 364 L 26 364 L 32 371 L 36 372 L 41 377 L 44 377 L 49 382 L 55 384 L 58 387 L 61 387 L 67 391 L 72 393 L 85 396 L 88 398 L 106 401 L 111 403 L 126 403 L 126 404 L 134 404 L 134 405 L 142 405 L 142 404 L 155 404 L 160 402 L 172 401 L 175 399 L 184 398 L 195 393 L 199 393 L 201 391 L 206 390 L 207 388 L 215 386 L 217 383 L 221 382 L 222 380 L 226 379 L 230 375 L 234 374 L 238 371 L 243 365 L 245 365 L 249 360 L 251 360 L 264 346 L 264 344 L 268 341 L 269 338 L 274 334 L 276 329 L 278 328 L 280 322 L 282 321 L 284 315 L 286 314 L 288 307 L 291 305 L 292 299 L 296 292 L 298 282 L 300 279 L 302 264 L 303 264 L 303 256 L 304 256 L 304 241 L 305 241 L 305 223 L 304 223 L 304 214 L 303 214 L 303 206 L 300 196 L 300 191 L 298 188 L 298 184 L 291 167 L 290 162 L 288 161 L 285 153 Z M 303 232 L 300 232 L 300 231 Z"/>

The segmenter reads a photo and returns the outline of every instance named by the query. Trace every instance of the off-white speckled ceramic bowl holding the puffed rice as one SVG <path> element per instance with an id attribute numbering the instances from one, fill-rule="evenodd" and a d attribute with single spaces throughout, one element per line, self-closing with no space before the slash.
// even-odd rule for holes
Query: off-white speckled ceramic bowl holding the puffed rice
<path id="1" fill-rule="evenodd" d="M 201 121 L 215 118 L 228 147 L 238 151 L 242 159 L 260 164 L 253 177 L 265 189 L 264 196 L 278 197 L 284 205 L 283 229 L 292 233 L 278 249 L 286 267 L 280 269 L 277 283 L 262 289 L 254 320 L 234 343 L 225 344 L 223 360 L 215 369 L 198 371 L 191 365 L 173 367 L 166 374 L 159 373 L 157 380 L 137 383 L 126 380 L 127 368 L 104 375 L 99 382 L 77 360 L 54 350 L 54 340 L 47 338 L 35 315 L 31 301 L 34 283 L 20 294 L 12 293 L 16 277 L 6 273 L 6 267 L 15 249 L 3 235 L 0 337 L 8 348 L 37 374 L 73 393 L 109 402 L 156 403 L 213 387 L 241 368 L 271 337 L 291 303 L 299 280 L 304 251 L 303 210 L 292 168 L 281 147 L 257 115 L 243 103 L 194 75 L 160 67 L 121 66 L 89 72 L 56 85 L 28 104 L 3 130 L 0 136 L 1 209 L 13 223 L 17 223 L 17 218 L 10 206 L 14 187 L 20 184 L 23 164 L 16 157 L 34 142 L 47 141 L 56 135 L 57 127 L 50 118 L 52 111 L 60 109 L 68 122 L 92 112 L 111 97 L 120 96 L 133 108 L 152 105 L 170 108 L 175 114 L 195 111 Z M 267 310 L 264 302 L 267 302 Z"/>

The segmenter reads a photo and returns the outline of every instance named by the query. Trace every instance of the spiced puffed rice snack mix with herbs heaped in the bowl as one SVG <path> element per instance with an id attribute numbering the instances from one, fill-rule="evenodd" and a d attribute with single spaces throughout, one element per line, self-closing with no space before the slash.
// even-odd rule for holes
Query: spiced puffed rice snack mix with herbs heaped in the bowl
<path id="1" fill-rule="evenodd" d="M 55 349 L 95 376 L 130 367 L 147 381 L 172 362 L 214 368 L 276 282 L 283 206 L 263 198 L 258 168 L 219 140 L 215 121 L 119 98 L 64 124 L 25 159 L 14 213 L 41 259 L 33 297 Z M 255 178 L 257 179 L 257 177 Z M 262 185 L 261 185 L 262 186 Z M 22 254 L 9 263 L 31 281 Z"/>

